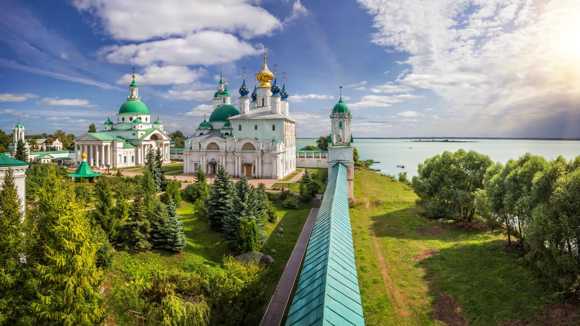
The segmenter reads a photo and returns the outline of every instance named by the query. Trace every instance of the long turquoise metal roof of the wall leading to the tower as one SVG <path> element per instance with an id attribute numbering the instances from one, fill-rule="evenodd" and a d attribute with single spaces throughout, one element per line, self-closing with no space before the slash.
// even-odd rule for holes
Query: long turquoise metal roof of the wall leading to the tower
<path id="1" fill-rule="evenodd" d="M 346 167 L 332 168 L 286 325 L 364 325 Z"/>

